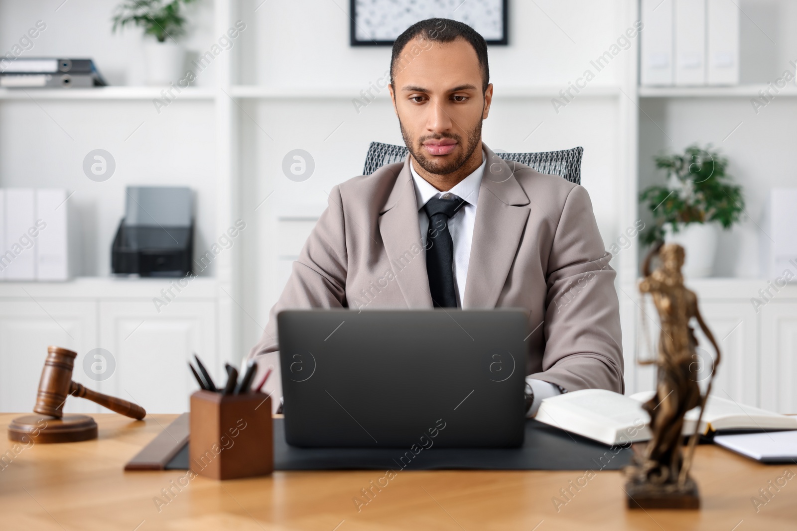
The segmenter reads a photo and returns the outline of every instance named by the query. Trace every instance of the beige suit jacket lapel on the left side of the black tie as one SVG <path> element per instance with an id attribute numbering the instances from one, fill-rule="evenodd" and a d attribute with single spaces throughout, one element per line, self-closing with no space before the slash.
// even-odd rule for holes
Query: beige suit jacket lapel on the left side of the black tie
<path id="1" fill-rule="evenodd" d="M 380 213 L 379 233 L 407 306 L 410 309 L 433 307 L 409 157 Z"/>

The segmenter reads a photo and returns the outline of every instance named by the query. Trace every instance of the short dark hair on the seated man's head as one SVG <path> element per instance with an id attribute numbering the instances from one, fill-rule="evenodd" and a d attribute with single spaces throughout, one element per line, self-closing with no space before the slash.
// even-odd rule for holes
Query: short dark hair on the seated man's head
<path id="1" fill-rule="evenodd" d="M 410 25 L 409 28 L 404 30 L 404 33 L 396 38 L 393 43 L 393 54 L 391 55 L 391 86 L 395 93 L 395 70 L 396 63 L 401 59 L 404 48 L 407 43 L 412 41 L 415 37 L 421 36 L 422 39 L 429 41 L 451 42 L 458 37 L 462 37 L 468 41 L 473 49 L 476 50 L 476 57 L 479 60 L 479 67 L 481 68 L 481 92 L 487 91 L 487 85 L 490 83 L 490 68 L 487 64 L 487 43 L 485 37 L 481 35 L 469 25 L 451 20 L 450 18 L 427 18 Z M 410 61 L 412 57 L 410 56 Z"/>

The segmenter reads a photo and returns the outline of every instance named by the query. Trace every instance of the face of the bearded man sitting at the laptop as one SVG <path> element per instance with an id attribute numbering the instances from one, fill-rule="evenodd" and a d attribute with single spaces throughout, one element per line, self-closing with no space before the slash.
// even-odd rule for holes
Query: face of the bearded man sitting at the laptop
<path id="1" fill-rule="evenodd" d="M 430 174 L 458 170 L 481 143 L 493 96 L 492 84 L 481 92 L 476 50 L 463 38 L 414 39 L 395 65 L 394 83 L 395 112 L 415 161 Z"/>

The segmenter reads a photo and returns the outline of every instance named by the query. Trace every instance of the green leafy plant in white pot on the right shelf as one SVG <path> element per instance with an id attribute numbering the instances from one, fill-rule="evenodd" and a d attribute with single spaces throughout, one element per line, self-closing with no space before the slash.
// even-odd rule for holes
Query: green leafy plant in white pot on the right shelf
<path id="1" fill-rule="evenodd" d="M 642 235 L 646 244 L 665 240 L 686 251 L 684 274 L 711 276 L 717 254 L 717 225 L 731 228 L 744 213 L 740 185 L 725 174 L 728 159 L 693 144 L 684 154 L 658 155 L 656 167 L 668 173 L 666 185 L 654 185 L 640 194 L 654 217 L 654 225 Z"/>

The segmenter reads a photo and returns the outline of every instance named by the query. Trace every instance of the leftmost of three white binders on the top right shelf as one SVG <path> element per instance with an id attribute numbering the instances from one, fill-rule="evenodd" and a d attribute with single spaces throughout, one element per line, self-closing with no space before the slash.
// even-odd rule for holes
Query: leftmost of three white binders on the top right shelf
<path id="1" fill-rule="evenodd" d="M 674 0 L 642 0 L 639 83 L 673 84 Z"/>

